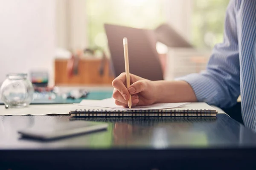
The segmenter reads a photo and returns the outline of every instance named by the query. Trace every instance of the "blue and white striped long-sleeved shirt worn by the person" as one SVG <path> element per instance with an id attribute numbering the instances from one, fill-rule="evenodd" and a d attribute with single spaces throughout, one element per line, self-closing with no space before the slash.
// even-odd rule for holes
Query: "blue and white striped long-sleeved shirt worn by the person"
<path id="1" fill-rule="evenodd" d="M 228 108 L 241 94 L 244 125 L 256 132 L 256 0 L 230 0 L 224 41 L 215 45 L 206 71 L 180 79 L 198 99 Z"/>

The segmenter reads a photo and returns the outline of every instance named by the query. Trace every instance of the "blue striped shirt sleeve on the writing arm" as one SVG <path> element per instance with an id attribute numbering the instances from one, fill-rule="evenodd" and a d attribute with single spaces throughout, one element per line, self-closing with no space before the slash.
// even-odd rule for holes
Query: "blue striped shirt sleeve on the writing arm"
<path id="1" fill-rule="evenodd" d="M 226 11 L 224 41 L 215 45 L 205 71 L 178 80 L 188 82 L 199 102 L 221 108 L 236 104 L 240 95 L 239 46 L 236 28 L 236 1 Z"/>

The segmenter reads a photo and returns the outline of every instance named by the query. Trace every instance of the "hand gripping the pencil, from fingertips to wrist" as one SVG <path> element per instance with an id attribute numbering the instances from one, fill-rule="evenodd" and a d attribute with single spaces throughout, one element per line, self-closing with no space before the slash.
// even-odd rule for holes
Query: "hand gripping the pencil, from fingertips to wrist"
<path id="1" fill-rule="evenodd" d="M 153 81 L 130 74 L 130 82 L 131 86 L 127 89 L 125 73 L 113 80 L 113 98 L 116 105 L 128 107 L 130 94 L 132 106 L 151 105 L 156 102 L 157 88 Z"/>

